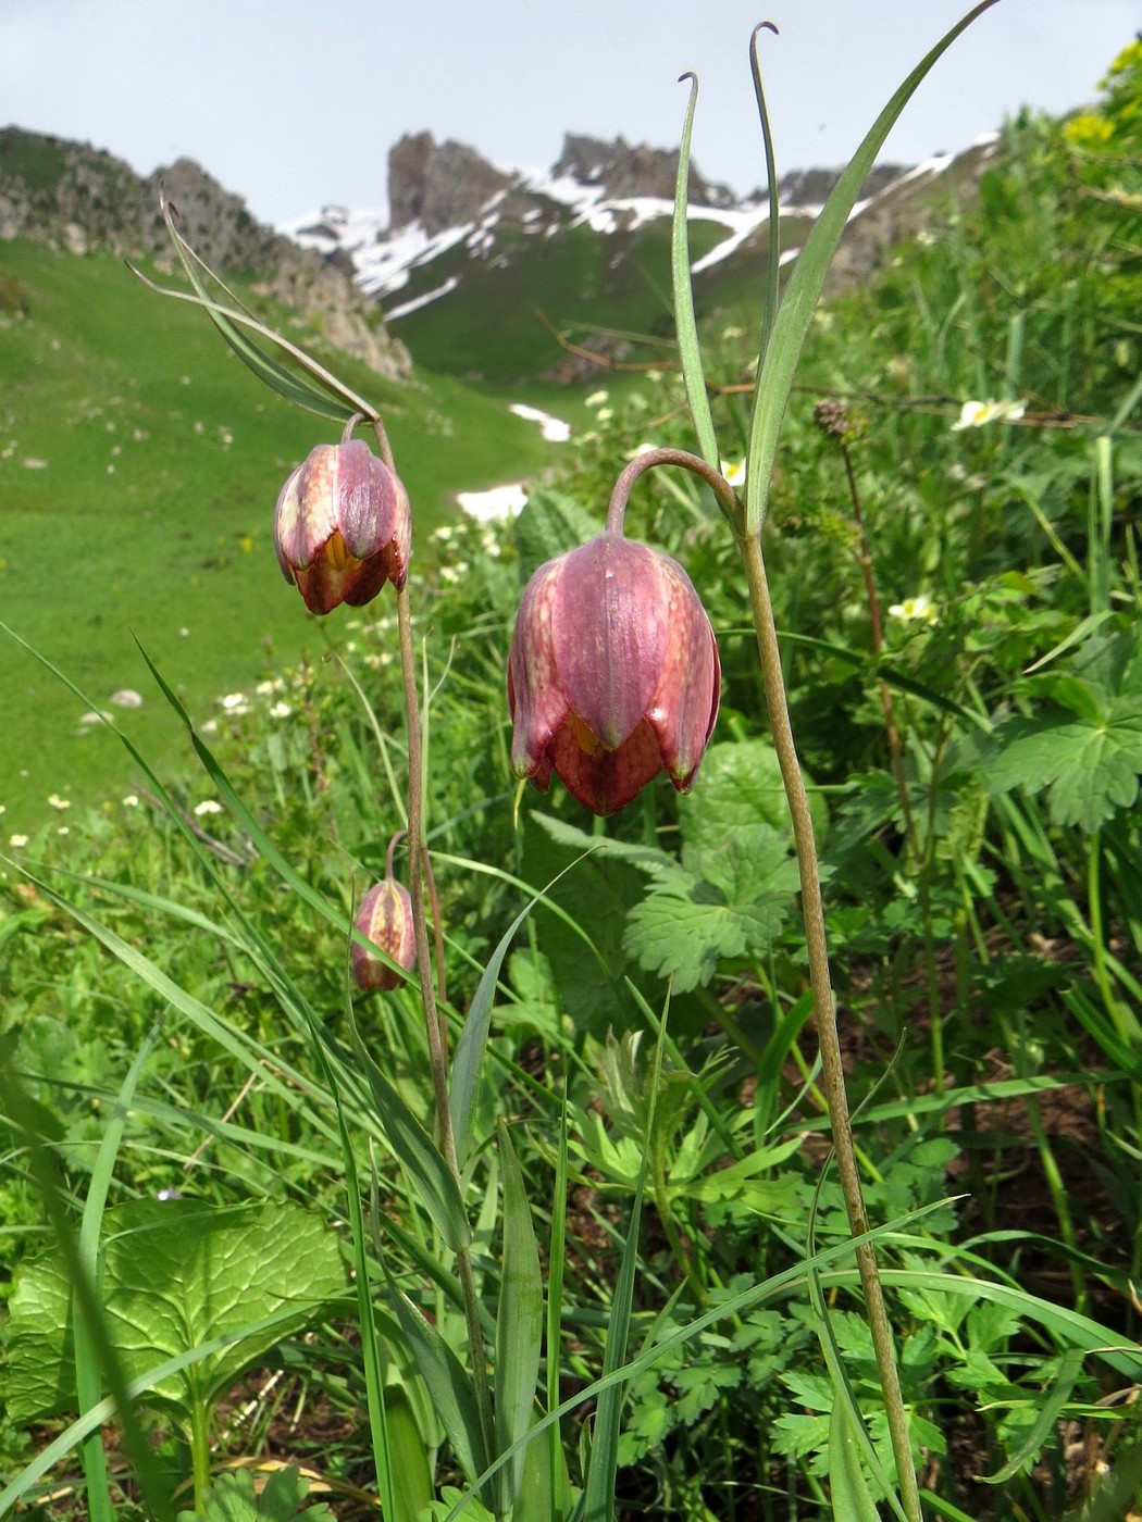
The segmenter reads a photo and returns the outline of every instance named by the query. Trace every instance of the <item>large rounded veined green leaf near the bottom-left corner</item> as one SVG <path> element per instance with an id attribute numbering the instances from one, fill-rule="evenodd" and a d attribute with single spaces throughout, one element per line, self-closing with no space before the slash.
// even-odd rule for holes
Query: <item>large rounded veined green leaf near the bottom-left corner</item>
<path id="1" fill-rule="evenodd" d="M 346 1294 L 337 1237 L 300 1205 L 218 1208 L 136 1199 L 104 1216 L 104 1317 L 129 1379 L 212 1338 L 233 1344 L 167 1374 L 152 1397 L 210 1403 L 282 1336 Z M 55 1254 L 26 1262 L 11 1300 L 6 1399 L 15 1422 L 75 1409 L 70 1289 Z M 280 1313 L 273 1330 L 250 1333 Z"/>

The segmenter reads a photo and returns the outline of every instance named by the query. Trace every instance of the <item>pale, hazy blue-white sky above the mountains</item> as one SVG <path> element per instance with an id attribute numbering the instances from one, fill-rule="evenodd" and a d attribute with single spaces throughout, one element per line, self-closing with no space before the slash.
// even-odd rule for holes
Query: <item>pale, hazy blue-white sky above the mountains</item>
<path id="1" fill-rule="evenodd" d="M 746 46 L 778 169 L 851 152 L 967 0 L 0 0 L 0 126 L 93 142 L 149 174 L 198 158 L 256 216 L 385 204 L 385 158 L 429 128 L 548 167 L 565 131 L 667 148 L 702 84 L 694 158 L 738 192 L 763 161 Z M 999 0 L 941 59 L 883 157 L 964 146 L 1022 103 L 1093 99 L 1139 0 Z"/>

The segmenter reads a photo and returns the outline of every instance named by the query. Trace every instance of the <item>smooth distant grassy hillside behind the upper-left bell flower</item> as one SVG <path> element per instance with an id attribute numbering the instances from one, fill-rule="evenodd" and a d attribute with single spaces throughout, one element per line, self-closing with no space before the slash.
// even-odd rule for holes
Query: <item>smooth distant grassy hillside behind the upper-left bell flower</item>
<path id="1" fill-rule="evenodd" d="M 396 388 L 338 370 L 382 408 L 420 536 L 460 490 L 519 479 L 551 457 L 501 400 L 419 371 Z M 0 244 L 0 592 L 3 619 L 105 705 L 151 755 L 177 740 L 132 633 L 203 714 L 256 679 L 270 648 L 324 639 L 273 554 L 277 492 L 332 425 L 274 399 L 206 315 L 163 300 L 105 254 Z M 431 447 L 425 447 L 425 443 Z M 0 653 L 0 840 L 49 793 L 97 799 L 123 755 L 11 641 Z"/>

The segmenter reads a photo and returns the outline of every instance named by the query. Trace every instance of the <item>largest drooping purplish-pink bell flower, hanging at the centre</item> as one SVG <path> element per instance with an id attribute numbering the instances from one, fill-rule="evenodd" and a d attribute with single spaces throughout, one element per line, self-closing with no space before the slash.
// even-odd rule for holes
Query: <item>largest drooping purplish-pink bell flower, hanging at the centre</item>
<path id="1" fill-rule="evenodd" d="M 684 793 L 717 718 L 714 630 L 676 560 L 608 530 L 548 560 L 519 604 L 507 673 L 512 766 L 554 772 L 612 814 L 665 770 Z"/>

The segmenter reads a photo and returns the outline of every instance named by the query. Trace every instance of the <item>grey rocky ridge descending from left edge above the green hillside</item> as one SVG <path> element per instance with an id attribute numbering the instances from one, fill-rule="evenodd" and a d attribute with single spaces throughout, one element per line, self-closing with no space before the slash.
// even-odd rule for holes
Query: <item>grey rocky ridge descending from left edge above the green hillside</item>
<path id="1" fill-rule="evenodd" d="M 107 248 L 126 259 L 166 259 L 160 186 L 178 209 L 181 231 L 213 269 L 254 274 L 338 349 L 391 379 L 408 374 L 408 352 L 390 338 L 344 260 L 323 259 L 265 227 L 193 160 L 180 158 L 143 180 L 88 143 L 15 126 L 0 131 L 0 239 L 33 237 L 81 257 Z"/>

